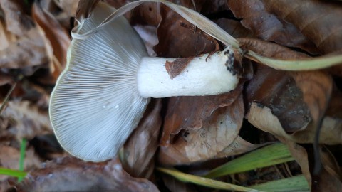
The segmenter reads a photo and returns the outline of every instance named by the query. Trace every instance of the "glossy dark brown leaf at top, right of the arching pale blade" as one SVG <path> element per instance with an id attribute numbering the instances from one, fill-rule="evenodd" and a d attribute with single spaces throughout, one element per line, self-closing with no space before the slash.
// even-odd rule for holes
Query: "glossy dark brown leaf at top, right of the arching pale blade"
<path id="1" fill-rule="evenodd" d="M 270 1 L 228 1 L 228 5 L 234 16 L 242 18 L 242 25 L 249 28 L 254 33 L 254 36 L 284 46 L 297 47 L 310 53 L 317 53 L 318 50 L 311 39 L 304 36 L 294 26 L 294 23 L 289 23 L 284 18 L 277 16 L 278 12 L 276 11 L 269 11 L 268 6 L 266 6 L 268 2 Z M 290 4 L 288 1 L 284 2 Z M 278 4 L 278 2 L 273 1 L 272 3 Z M 301 3 L 297 1 L 293 2 L 293 4 Z M 284 9 L 284 7 L 286 6 L 281 6 L 281 9 Z"/>

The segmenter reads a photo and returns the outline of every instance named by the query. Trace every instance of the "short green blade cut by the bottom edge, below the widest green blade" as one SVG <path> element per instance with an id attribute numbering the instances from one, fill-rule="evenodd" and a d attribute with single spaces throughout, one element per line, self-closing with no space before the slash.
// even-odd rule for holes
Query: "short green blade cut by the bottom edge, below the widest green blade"
<path id="1" fill-rule="evenodd" d="M 308 182 L 303 175 L 269 181 L 255 186 L 249 186 L 262 191 L 310 191 Z"/>

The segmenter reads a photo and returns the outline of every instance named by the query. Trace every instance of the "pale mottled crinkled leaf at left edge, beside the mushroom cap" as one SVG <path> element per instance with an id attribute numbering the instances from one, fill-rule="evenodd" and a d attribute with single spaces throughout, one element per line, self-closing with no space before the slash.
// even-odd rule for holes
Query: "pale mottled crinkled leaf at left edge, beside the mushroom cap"
<path id="1" fill-rule="evenodd" d="M 38 134 L 51 134 L 53 132 L 48 112 L 39 110 L 36 105 L 28 101 L 9 101 L 2 112 L 1 118 L 10 119 L 4 128 L 19 141 L 21 138 L 32 139 Z"/>

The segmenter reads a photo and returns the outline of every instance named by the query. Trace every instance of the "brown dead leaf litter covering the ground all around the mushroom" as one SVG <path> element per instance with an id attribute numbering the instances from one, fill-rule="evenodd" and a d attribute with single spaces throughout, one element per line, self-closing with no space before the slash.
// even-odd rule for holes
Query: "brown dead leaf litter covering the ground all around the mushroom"
<path id="1" fill-rule="evenodd" d="M 24 1 L 1 1 L 1 100 L 17 80 L 17 75 L 24 75 L 1 113 L 1 166 L 17 169 L 13 162 L 18 161 L 22 138 L 33 141 L 48 138 L 45 136 L 52 133 L 46 101 L 66 63 L 71 41 L 68 33 L 73 26 L 71 18 L 76 16 L 77 21 L 87 18 L 98 1 L 80 2 L 45 0 L 26 4 Z M 117 8 L 129 2 L 108 0 L 108 4 Z M 247 54 L 254 51 L 281 60 L 341 54 L 342 17 L 339 15 L 342 6 L 338 2 L 172 2 L 214 20 L 223 31 L 237 38 L 236 42 Z M 202 31 L 163 4 L 144 3 L 125 16 L 133 26 L 155 29 L 157 44 L 155 37 L 144 40 L 150 50 L 155 51 L 151 54 L 157 56 L 193 57 L 222 50 L 229 41 L 222 44 L 219 40 L 222 40 L 223 32 L 217 33 L 219 40 L 216 40 L 216 33 L 207 35 L 204 31 L 208 29 Z M 51 186 L 61 190 L 158 191 L 159 188 L 162 191 L 168 188 L 170 191 L 199 191 L 199 187 L 192 184 L 160 176 L 154 171 L 155 164 L 204 174 L 208 171 L 205 164 L 219 166 L 277 138 L 289 146 L 297 166 L 290 170 L 281 166 L 266 169 L 272 173 L 271 178 L 260 176 L 261 179 L 276 180 L 280 169 L 283 174 L 289 171 L 304 174 L 313 191 L 341 191 L 341 164 L 338 164 L 341 156 L 336 155 L 341 153 L 342 140 L 342 95 L 338 88 L 341 88 L 341 80 L 336 78 L 341 76 L 338 72 L 341 65 L 324 70 L 286 72 L 247 59 L 241 64 L 244 75 L 232 92 L 153 100 L 120 152 L 121 162 L 113 159 L 94 164 L 66 156 L 56 157 L 43 166 L 41 163 L 48 159 L 37 154 L 42 146 L 28 142 L 25 159 L 28 176 L 22 183 L 13 179 L 6 183 L 8 177 L 1 177 L 4 178 L 1 190 L 11 185 L 18 191 L 46 191 Z M 260 134 L 241 136 L 241 129 L 249 130 L 251 124 Z M 319 124 L 322 171 L 316 175 L 312 144 Z M 268 132 L 269 136 L 265 137 L 267 134 L 262 132 Z M 257 136 L 260 137 L 255 138 Z M 8 151 L 12 152 L 6 154 Z M 73 178 L 73 182 L 66 183 L 69 178 Z M 244 173 L 233 179 L 222 179 L 245 185 L 256 182 Z"/>

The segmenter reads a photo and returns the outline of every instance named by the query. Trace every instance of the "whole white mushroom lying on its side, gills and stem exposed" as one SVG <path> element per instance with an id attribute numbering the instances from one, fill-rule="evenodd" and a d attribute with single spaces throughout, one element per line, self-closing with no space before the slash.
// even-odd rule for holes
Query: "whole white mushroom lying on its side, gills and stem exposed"
<path id="1" fill-rule="evenodd" d="M 86 33 L 115 9 L 98 3 L 78 33 Z M 138 33 L 122 16 L 86 39 L 73 39 L 67 66 L 51 94 L 50 118 L 61 146 L 86 161 L 113 158 L 137 127 L 150 97 L 218 95 L 239 78 L 232 51 L 194 58 L 171 79 L 165 62 L 150 58 Z"/>

